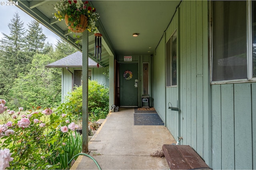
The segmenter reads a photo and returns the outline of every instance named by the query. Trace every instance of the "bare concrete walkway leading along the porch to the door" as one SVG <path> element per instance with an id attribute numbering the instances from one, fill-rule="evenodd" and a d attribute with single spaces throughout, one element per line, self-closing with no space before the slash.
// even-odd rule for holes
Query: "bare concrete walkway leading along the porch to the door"
<path id="1" fill-rule="evenodd" d="M 152 157 L 163 144 L 176 143 L 164 126 L 134 125 L 134 108 L 108 115 L 89 142 L 90 156 L 101 169 L 169 169 L 165 158 Z M 72 170 L 98 169 L 87 156 L 78 156 Z"/>

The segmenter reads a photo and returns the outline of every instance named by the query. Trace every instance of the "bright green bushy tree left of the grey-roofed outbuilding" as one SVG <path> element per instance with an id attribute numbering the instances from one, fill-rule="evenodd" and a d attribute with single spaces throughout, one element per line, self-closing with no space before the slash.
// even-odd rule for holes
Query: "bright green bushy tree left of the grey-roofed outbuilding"
<path id="1" fill-rule="evenodd" d="M 60 79 L 55 79 L 55 69 L 46 68 L 45 65 L 54 62 L 46 54 L 36 54 L 32 60 L 32 67 L 26 75 L 20 75 L 10 89 L 11 100 L 8 108 L 32 106 L 54 107 L 61 103 L 61 72 Z"/>

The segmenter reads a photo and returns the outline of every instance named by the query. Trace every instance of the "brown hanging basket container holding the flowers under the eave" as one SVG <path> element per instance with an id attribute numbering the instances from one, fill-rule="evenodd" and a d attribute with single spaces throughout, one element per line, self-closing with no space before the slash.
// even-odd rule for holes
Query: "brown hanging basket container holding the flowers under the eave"
<path id="1" fill-rule="evenodd" d="M 68 29 L 70 29 L 70 31 L 72 32 L 84 32 L 86 30 L 86 26 L 87 26 L 87 17 L 85 15 L 80 15 L 80 23 L 76 25 L 76 27 L 74 26 L 73 22 L 68 21 L 69 16 L 66 14 L 65 15 L 65 22 L 66 25 L 68 26 Z"/>

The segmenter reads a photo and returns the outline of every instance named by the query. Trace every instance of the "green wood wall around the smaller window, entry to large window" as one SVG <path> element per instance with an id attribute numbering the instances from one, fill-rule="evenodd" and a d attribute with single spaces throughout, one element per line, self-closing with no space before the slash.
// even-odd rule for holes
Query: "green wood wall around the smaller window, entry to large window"
<path id="1" fill-rule="evenodd" d="M 160 117 L 168 102 L 173 106 L 179 101 L 180 113 L 166 109 L 166 126 L 178 139 L 183 137 L 180 144 L 190 145 L 211 166 L 211 95 L 210 71 L 208 53 L 208 2 L 182 1 L 166 30 L 166 40 L 156 49 L 153 58 L 153 97 L 154 107 Z M 177 28 L 178 24 L 178 28 Z M 168 87 L 164 90 L 165 73 L 162 63 L 165 55 L 165 43 L 173 30 L 178 32 L 178 87 Z M 157 82 L 157 83 L 156 83 Z M 155 93 L 157 91 L 157 93 Z M 165 94 L 166 93 L 166 94 Z M 166 99 L 164 99 L 166 96 Z M 165 101 L 166 103 L 163 104 Z M 176 114 L 176 115 L 174 115 Z M 179 121 L 180 128 L 177 121 Z"/>

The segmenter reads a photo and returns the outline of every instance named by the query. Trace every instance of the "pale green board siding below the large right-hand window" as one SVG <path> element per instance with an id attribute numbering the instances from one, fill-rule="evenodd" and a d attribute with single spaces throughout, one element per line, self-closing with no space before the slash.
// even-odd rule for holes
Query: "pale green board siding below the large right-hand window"
<path id="1" fill-rule="evenodd" d="M 256 83 L 211 87 L 212 168 L 255 169 Z"/>

